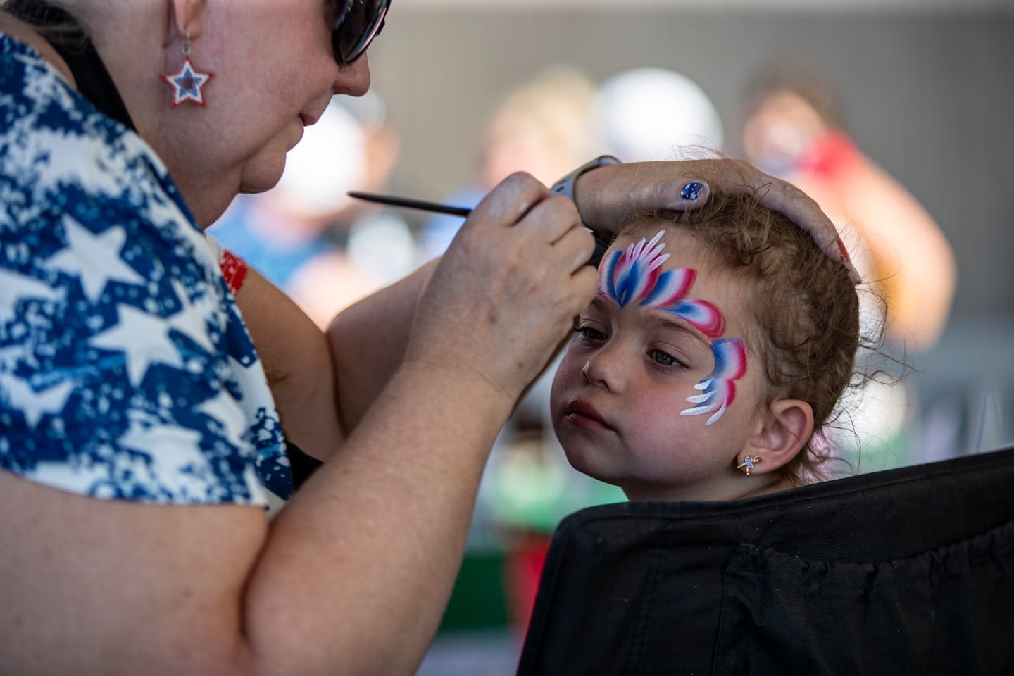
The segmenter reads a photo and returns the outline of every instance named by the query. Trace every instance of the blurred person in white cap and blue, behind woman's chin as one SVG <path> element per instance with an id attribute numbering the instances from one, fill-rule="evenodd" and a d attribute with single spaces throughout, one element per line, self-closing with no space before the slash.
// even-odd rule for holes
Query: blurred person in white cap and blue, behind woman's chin
<path id="1" fill-rule="evenodd" d="M 237 197 L 209 233 L 323 327 L 419 262 L 401 214 L 346 195 L 386 191 L 397 155 L 399 135 L 378 94 L 336 96 L 289 152 L 278 184 Z"/>

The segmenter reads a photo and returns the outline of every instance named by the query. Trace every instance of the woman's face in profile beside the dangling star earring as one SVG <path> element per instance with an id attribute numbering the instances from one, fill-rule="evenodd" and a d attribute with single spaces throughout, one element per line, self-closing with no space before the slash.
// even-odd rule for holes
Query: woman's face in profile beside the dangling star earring
<path id="1" fill-rule="evenodd" d="M 369 88 L 365 56 L 351 66 L 335 61 L 336 5 L 219 0 L 205 6 L 191 60 L 198 70 L 214 73 L 204 88 L 206 106 L 167 110 L 160 138 L 168 142 L 158 148 L 202 225 L 216 219 L 236 193 L 272 187 L 285 154 L 333 94 L 361 96 Z M 177 40 L 166 49 L 166 72 L 178 69 L 180 47 Z"/>

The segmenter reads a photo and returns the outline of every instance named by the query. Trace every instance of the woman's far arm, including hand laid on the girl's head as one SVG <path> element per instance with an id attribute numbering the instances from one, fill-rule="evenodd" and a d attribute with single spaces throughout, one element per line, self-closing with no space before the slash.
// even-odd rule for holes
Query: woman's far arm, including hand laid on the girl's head
<path id="1" fill-rule="evenodd" d="M 687 183 L 700 183 L 695 200 L 683 197 Z M 844 249 L 838 232 L 816 203 L 790 183 L 737 160 L 602 166 L 578 178 L 575 198 L 583 222 L 605 230 L 641 209 L 694 209 L 707 202 L 709 184 L 725 191 L 757 191 L 765 204 L 792 218 L 821 243 L 828 255 L 841 259 Z M 344 429 L 351 430 L 390 379 L 401 364 L 419 296 L 436 264 L 431 261 L 405 280 L 343 310 L 327 331 L 330 353 L 322 350 L 318 332 L 310 326 L 312 322 L 301 318 L 279 321 L 268 311 L 289 304 L 292 308 L 286 311 L 287 317 L 289 312 L 299 312 L 281 292 L 262 293 L 258 287 L 267 284 L 263 280 L 252 290 L 244 287 L 240 291 L 238 301 L 243 316 L 248 317 L 269 374 L 281 379 L 273 385 L 273 393 L 283 421 L 288 422 L 287 430 L 303 450 L 328 457 L 337 438 L 335 430 L 324 422 L 332 406 L 337 406 Z M 303 339 L 294 340 L 296 326 Z M 332 369 L 323 366 L 325 359 L 333 360 Z M 298 373 L 293 374 L 293 369 Z M 295 431 L 297 426 L 300 432 Z"/>

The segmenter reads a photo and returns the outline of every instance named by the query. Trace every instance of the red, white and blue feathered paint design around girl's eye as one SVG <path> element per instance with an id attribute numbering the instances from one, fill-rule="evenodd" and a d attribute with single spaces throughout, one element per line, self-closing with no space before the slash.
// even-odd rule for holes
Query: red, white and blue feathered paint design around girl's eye
<path id="1" fill-rule="evenodd" d="M 660 230 L 651 241 L 642 238 L 626 251 L 613 251 L 602 261 L 598 273 L 598 293 L 620 304 L 620 307 L 637 305 L 656 307 L 671 312 L 686 323 L 712 339 L 715 368 L 711 375 L 695 385 L 701 394 L 686 400 L 698 405 L 679 411 L 680 416 L 712 414 L 706 425 L 711 425 L 725 412 L 736 396 L 735 380 L 746 373 L 746 348 L 739 339 L 718 339 L 725 332 L 725 317 L 721 311 L 705 300 L 686 300 L 694 286 L 697 271 L 679 268 L 659 272 L 669 258 L 662 253 L 665 234 Z"/>

